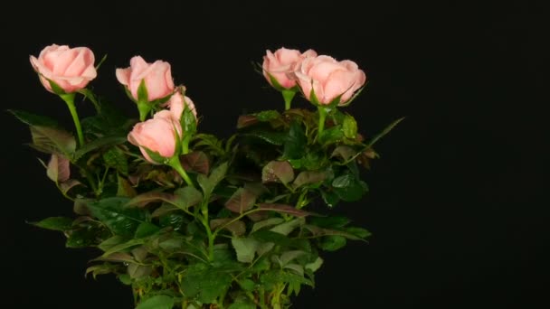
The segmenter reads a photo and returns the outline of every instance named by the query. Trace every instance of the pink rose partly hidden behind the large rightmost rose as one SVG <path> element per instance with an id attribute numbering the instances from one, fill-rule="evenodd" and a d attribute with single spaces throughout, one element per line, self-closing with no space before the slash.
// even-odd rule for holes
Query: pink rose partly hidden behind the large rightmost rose
<path id="1" fill-rule="evenodd" d="M 270 75 L 280 86 L 284 89 L 290 89 L 296 86 L 296 80 L 294 77 L 289 74 L 292 73 L 294 67 L 307 57 L 316 57 L 317 52 L 313 50 L 308 50 L 304 53 L 299 52 L 298 50 L 289 50 L 284 47 L 281 47 L 275 52 L 266 52 L 266 55 L 263 56 L 263 76 L 270 83 L 271 86 L 274 86 L 271 83 Z"/>

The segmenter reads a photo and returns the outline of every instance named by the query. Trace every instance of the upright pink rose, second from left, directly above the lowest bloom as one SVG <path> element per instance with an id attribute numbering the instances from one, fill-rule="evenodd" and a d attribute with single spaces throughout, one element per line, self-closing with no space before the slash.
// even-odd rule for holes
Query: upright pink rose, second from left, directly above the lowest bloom
<path id="1" fill-rule="evenodd" d="M 147 63 L 140 56 L 135 56 L 130 60 L 129 68 L 117 69 L 116 72 L 117 80 L 126 86 L 136 100 L 141 80 L 145 80 L 149 102 L 157 98 L 165 98 L 174 91 L 170 63 L 166 61 Z"/>

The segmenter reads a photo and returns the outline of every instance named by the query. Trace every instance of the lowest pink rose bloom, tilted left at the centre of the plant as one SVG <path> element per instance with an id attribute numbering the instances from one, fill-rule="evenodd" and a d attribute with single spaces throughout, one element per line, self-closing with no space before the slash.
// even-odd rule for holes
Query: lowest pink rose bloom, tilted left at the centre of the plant
<path id="1" fill-rule="evenodd" d="M 161 110 L 153 118 L 140 122 L 128 134 L 128 141 L 139 147 L 141 154 L 147 161 L 157 164 L 148 154 L 145 148 L 158 153 L 165 158 L 176 155 L 175 135 L 182 136 L 182 127 L 179 121 L 169 110 Z"/>

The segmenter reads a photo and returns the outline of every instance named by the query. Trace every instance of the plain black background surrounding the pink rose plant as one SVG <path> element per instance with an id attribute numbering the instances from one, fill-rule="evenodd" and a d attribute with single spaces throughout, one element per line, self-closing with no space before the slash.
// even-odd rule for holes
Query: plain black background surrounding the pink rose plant
<path id="1" fill-rule="evenodd" d="M 368 87 L 346 111 L 374 134 L 371 192 L 333 212 L 370 229 L 369 244 L 325 255 L 296 308 L 548 308 L 548 57 L 545 8 L 517 1 L 14 2 L 3 8 L 2 106 L 71 119 L 28 57 L 52 43 L 108 54 L 92 86 L 135 113 L 116 68 L 131 56 L 172 64 L 200 129 L 228 136 L 242 112 L 282 108 L 252 70 L 281 46 L 350 59 Z M 540 2 L 542 4 L 542 1 Z M 14 20 L 9 20 L 8 17 Z M 7 68 L 7 70 L 5 70 Z M 544 75 L 545 74 L 545 75 Z M 301 101 L 303 107 L 307 103 Z M 81 115 L 90 112 L 79 105 Z M 71 214 L 2 113 L 3 308 L 131 308 L 113 277 L 84 278 L 86 250 L 25 220 Z M 7 287 L 6 287 L 7 286 Z M 7 303 L 7 304 L 6 304 Z"/>

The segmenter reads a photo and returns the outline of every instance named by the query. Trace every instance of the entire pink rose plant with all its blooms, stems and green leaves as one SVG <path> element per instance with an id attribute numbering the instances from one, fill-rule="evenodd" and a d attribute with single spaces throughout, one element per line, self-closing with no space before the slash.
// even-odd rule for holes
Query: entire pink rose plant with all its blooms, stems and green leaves
<path id="1" fill-rule="evenodd" d="M 11 112 L 30 127 L 33 148 L 50 155 L 47 176 L 73 202 L 74 218 L 33 224 L 62 231 L 69 248 L 99 249 L 86 273 L 117 276 L 137 308 L 287 308 L 300 286 L 314 286 L 322 251 L 370 235 L 323 213 L 363 197 L 360 168 L 401 120 L 367 139 L 340 111 L 365 87 L 356 62 L 267 51 L 258 67 L 284 110 L 242 115 L 221 140 L 200 132 L 170 63 L 135 56 L 115 71 L 134 118 L 88 87 L 104 60 L 56 44 L 30 57 L 43 87 L 67 105 L 76 138 L 55 119 Z M 314 108 L 292 108 L 296 94 Z M 76 96 L 96 114 L 80 117 Z"/>

